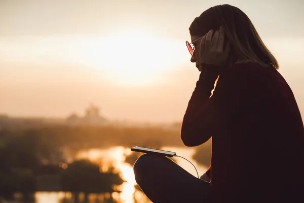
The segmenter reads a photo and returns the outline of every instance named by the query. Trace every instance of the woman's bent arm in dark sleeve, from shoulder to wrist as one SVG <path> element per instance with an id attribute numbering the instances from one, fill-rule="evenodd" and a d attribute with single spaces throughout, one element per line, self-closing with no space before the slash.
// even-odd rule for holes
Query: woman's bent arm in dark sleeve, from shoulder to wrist
<path id="1" fill-rule="evenodd" d="M 189 100 L 182 126 L 181 140 L 186 146 L 198 146 L 220 131 L 246 104 L 250 76 L 244 65 L 230 67 L 218 79 L 211 95 L 219 68 L 202 64 L 206 72 L 200 79 Z"/>

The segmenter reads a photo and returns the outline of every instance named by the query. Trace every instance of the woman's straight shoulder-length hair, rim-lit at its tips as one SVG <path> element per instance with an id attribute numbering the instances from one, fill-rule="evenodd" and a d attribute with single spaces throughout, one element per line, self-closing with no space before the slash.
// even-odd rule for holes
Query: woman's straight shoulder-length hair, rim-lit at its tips
<path id="1" fill-rule="evenodd" d="M 225 42 L 229 41 L 234 62 L 254 61 L 262 66 L 272 65 L 279 69 L 275 56 L 263 43 L 248 16 L 231 5 L 218 5 L 204 11 L 189 27 L 193 36 L 203 36 L 210 29 L 225 30 Z"/>

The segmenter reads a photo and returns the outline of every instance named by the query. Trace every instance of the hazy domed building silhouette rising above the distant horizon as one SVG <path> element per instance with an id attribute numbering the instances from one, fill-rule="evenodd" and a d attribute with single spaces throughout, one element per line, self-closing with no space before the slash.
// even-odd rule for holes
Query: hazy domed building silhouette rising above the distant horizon
<path id="1" fill-rule="evenodd" d="M 106 118 L 100 116 L 100 109 L 92 104 L 86 109 L 84 117 L 79 117 L 77 114 L 73 113 L 69 117 L 67 117 L 66 122 L 70 125 L 96 126 L 103 126 L 109 123 Z"/>

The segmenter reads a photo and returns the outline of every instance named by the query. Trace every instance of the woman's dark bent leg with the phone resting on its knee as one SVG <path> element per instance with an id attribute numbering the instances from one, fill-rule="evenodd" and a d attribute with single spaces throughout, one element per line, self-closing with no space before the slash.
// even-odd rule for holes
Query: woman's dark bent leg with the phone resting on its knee
<path id="1" fill-rule="evenodd" d="M 135 179 L 154 203 L 210 202 L 210 183 L 186 172 L 171 159 L 144 154 L 134 164 Z"/>

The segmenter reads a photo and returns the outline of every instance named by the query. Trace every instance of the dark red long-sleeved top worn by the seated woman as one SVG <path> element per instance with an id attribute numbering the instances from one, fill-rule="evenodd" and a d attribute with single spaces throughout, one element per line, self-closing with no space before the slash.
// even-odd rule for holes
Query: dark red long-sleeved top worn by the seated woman
<path id="1" fill-rule="evenodd" d="M 198 146 L 212 137 L 212 202 L 304 202 L 304 127 L 284 78 L 257 63 L 220 74 L 202 65 L 181 139 Z"/>

